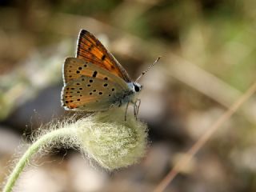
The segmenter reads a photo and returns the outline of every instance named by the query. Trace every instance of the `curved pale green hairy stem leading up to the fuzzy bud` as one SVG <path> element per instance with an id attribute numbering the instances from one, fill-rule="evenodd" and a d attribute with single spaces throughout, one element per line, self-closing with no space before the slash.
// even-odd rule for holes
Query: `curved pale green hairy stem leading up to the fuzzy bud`
<path id="1" fill-rule="evenodd" d="M 36 154 L 44 146 L 49 145 L 50 142 L 58 141 L 60 138 L 68 138 L 72 135 L 74 136 L 74 134 L 76 134 L 76 129 L 74 128 L 61 128 L 58 130 L 52 130 L 49 133 L 42 135 L 41 138 L 38 138 L 38 140 L 34 142 L 28 150 L 26 150 L 25 154 L 22 155 L 22 158 L 20 158 L 14 167 L 14 170 L 6 182 L 6 186 L 4 186 L 3 192 L 12 191 L 19 175 L 22 173 L 24 167 L 30 162 L 30 158 L 32 158 L 34 154 Z"/>

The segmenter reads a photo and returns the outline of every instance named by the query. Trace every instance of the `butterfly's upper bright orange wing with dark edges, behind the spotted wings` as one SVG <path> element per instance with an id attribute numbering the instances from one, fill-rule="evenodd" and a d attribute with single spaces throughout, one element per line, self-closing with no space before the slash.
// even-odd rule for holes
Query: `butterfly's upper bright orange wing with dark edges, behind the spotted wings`
<path id="1" fill-rule="evenodd" d="M 78 37 L 77 58 L 82 58 L 86 62 L 91 62 L 96 66 L 109 70 L 111 74 L 117 75 L 126 82 L 131 82 L 129 75 L 121 64 L 93 34 L 86 30 L 81 30 Z"/>

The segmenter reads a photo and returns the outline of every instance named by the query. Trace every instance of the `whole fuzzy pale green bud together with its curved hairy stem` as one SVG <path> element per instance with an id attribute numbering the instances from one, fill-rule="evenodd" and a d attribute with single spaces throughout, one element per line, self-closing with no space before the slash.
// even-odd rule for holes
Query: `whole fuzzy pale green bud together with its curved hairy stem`
<path id="1" fill-rule="evenodd" d="M 74 147 L 81 150 L 91 162 L 106 170 L 130 166 L 146 152 L 147 126 L 134 115 L 120 109 L 91 114 L 87 117 L 68 118 L 41 127 L 32 144 L 18 160 L 7 179 L 3 192 L 12 191 L 25 166 L 37 154 L 49 153 L 51 147 Z"/>

